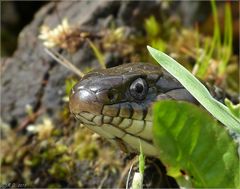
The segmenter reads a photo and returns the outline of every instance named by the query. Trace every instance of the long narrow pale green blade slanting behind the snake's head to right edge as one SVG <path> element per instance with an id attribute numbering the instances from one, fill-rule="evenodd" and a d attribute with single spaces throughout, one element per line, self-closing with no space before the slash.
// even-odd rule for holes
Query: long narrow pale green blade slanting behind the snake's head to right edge
<path id="1" fill-rule="evenodd" d="M 215 100 L 207 88 L 187 69 L 163 52 L 147 46 L 153 58 L 171 75 L 173 75 L 216 119 L 229 129 L 240 134 L 240 119 L 231 111 Z"/>

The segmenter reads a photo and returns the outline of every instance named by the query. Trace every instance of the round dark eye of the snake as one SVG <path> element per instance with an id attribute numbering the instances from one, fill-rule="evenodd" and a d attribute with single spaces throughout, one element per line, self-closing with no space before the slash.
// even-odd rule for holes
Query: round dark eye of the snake
<path id="1" fill-rule="evenodd" d="M 144 79 L 138 78 L 130 86 L 130 94 L 137 100 L 143 100 L 148 91 L 147 83 Z"/>

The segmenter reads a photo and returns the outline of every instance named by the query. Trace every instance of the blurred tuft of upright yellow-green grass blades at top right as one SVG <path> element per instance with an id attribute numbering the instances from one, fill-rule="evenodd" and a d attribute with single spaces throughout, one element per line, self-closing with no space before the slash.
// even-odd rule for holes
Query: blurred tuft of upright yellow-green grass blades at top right
<path id="1" fill-rule="evenodd" d="M 232 16 L 230 4 L 227 3 L 225 6 L 225 20 L 224 20 L 224 39 L 221 42 L 220 26 L 218 21 L 218 12 L 216 7 L 216 2 L 211 0 L 212 13 L 214 19 L 214 31 L 212 40 L 206 39 L 202 55 L 198 54 L 196 66 L 196 75 L 200 78 L 206 77 L 207 70 L 211 60 L 218 61 L 217 76 L 222 77 L 229 63 L 232 54 Z M 197 42 L 197 49 L 199 49 L 199 40 Z"/>

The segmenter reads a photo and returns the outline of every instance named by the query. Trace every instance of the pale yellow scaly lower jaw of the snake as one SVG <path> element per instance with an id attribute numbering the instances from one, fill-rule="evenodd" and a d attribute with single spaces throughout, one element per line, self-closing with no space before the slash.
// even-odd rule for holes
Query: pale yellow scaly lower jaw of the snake
<path id="1" fill-rule="evenodd" d="M 125 152 L 139 151 L 141 143 L 145 154 L 158 155 L 152 144 L 152 121 L 93 115 L 88 112 L 75 114 L 75 117 L 87 128 L 118 145 Z"/>

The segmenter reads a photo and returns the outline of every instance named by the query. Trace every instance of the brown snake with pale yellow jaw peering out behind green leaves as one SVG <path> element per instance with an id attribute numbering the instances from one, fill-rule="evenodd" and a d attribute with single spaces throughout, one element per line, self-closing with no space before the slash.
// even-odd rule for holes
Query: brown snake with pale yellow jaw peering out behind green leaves
<path id="1" fill-rule="evenodd" d="M 212 91 L 215 98 L 222 98 Z M 145 155 L 157 157 L 152 106 L 169 99 L 199 104 L 159 65 L 127 63 L 84 75 L 72 88 L 69 109 L 83 125 L 121 150 L 138 153 L 141 144 Z"/>

